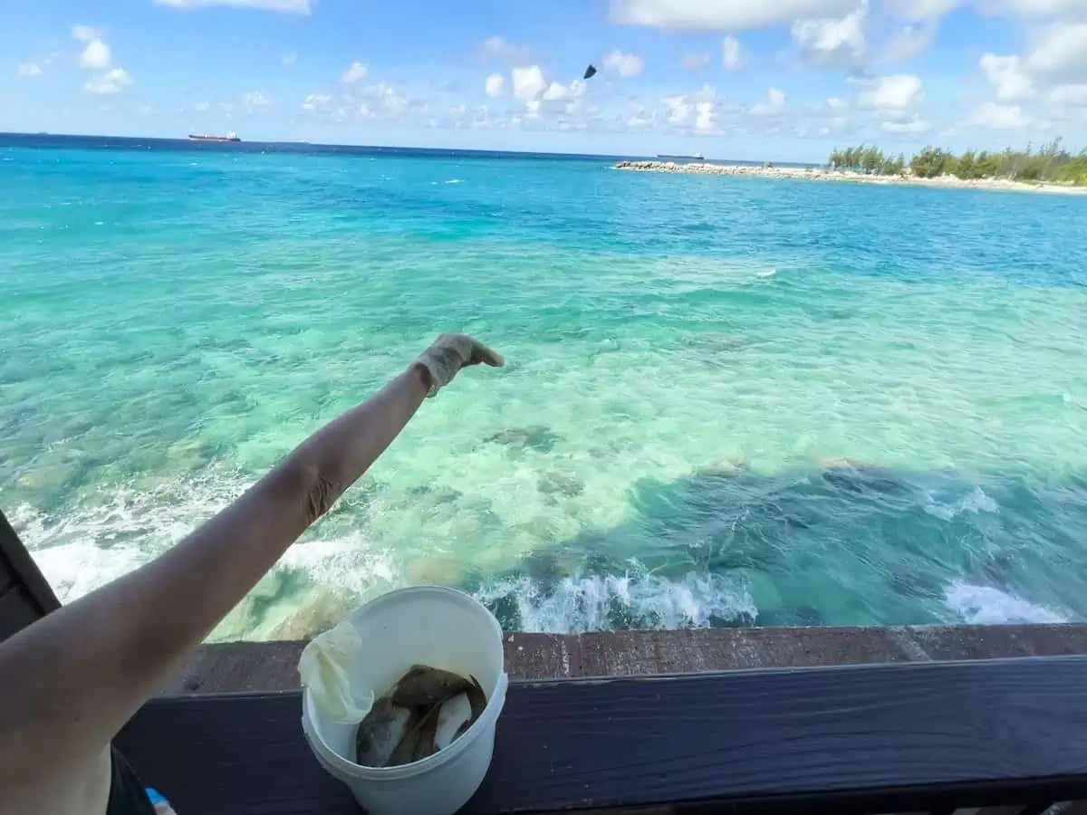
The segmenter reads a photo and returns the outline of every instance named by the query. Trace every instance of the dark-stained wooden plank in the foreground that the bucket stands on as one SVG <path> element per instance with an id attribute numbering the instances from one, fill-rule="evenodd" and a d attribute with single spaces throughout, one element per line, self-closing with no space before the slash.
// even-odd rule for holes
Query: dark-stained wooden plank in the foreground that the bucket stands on
<path id="1" fill-rule="evenodd" d="M 1084 687 L 1084 656 L 513 685 L 464 812 L 1067 800 L 1087 788 Z M 118 745 L 179 812 L 357 813 L 299 717 L 297 693 L 155 700 Z"/>

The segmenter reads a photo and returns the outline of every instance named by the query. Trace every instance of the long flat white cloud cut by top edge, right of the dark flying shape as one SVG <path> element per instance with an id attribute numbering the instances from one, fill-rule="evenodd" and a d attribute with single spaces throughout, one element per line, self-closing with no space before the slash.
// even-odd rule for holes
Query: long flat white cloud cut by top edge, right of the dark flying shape
<path id="1" fill-rule="evenodd" d="M 855 7 L 857 0 L 612 0 L 611 18 L 652 28 L 728 30 L 841 17 Z"/>

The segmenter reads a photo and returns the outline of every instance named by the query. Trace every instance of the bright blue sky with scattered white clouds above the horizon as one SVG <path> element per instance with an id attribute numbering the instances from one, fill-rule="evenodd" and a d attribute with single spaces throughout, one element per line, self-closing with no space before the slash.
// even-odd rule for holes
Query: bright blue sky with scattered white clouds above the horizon
<path id="1" fill-rule="evenodd" d="M 0 130 L 24 133 L 753 161 L 1079 148 L 1087 0 L 0 0 Z"/>

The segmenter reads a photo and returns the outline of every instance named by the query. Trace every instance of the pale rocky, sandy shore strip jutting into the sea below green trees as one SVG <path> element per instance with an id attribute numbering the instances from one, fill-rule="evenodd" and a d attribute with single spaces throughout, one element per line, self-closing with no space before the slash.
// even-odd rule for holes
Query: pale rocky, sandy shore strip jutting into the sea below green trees
<path id="1" fill-rule="evenodd" d="M 826 167 L 775 167 L 747 164 L 708 164 L 704 162 L 676 163 L 672 161 L 621 161 L 613 170 L 630 173 L 682 173 L 685 175 L 720 175 L 747 178 L 784 178 L 803 181 L 838 181 L 852 184 L 895 185 L 900 187 L 932 187 L 936 189 L 976 189 L 1004 192 L 1044 192 L 1049 195 L 1077 196 L 1087 193 L 1087 187 L 1060 184 L 1027 184 L 1007 178 L 964 179 L 953 175 L 937 178 L 915 176 L 866 175 L 851 170 L 828 170 Z"/>

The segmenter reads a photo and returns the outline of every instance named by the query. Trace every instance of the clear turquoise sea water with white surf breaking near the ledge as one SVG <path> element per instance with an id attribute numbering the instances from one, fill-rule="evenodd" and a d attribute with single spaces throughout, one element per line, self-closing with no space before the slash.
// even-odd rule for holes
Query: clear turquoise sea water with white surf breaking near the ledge
<path id="1" fill-rule="evenodd" d="M 392 587 L 524 630 L 1087 617 L 1087 201 L 605 161 L 0 141 L 0 506 L 62 598 L 442 330 L 214 637 Z"/>

